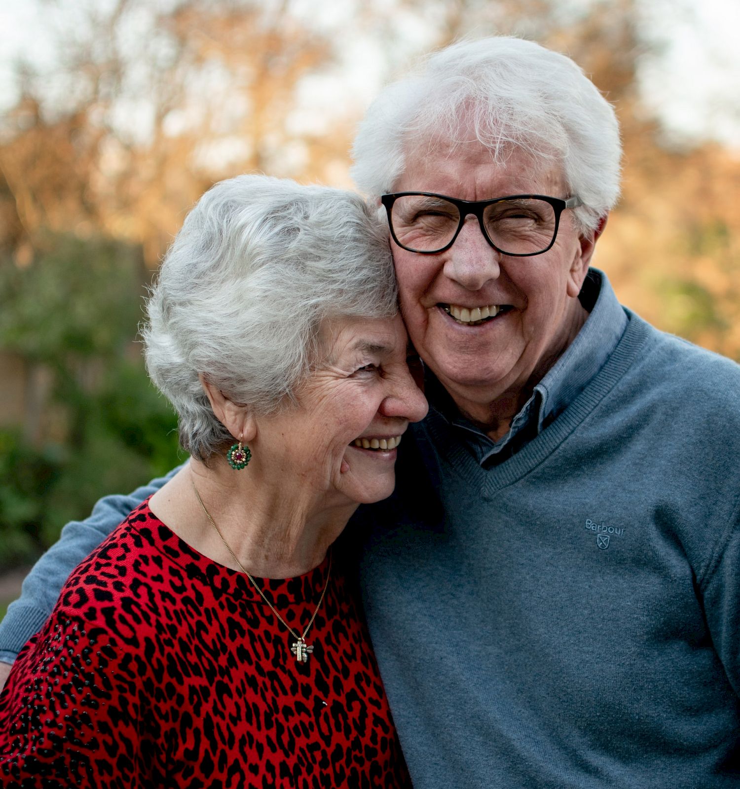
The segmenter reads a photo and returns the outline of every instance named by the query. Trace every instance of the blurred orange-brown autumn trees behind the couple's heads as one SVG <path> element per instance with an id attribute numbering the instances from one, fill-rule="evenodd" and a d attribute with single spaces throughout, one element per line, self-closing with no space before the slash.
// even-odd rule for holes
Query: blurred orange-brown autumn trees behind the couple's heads
<path id="1" fill-rule="evenodd" d="M 14 250 L 18 263 L 43 246 L 47 230 L 71 229 L 140 245 L 154 267 L 187 208 L 218 178 L 263 170 L 331 182 L 345 174 L 352 110 L 337 107 L 323 134 L 291 118 L 301 85 L 340 61 L 350 30 L 361 28 L 389 71 L 415 47 L 508 33 L 570 54 L 615 104 L 626 178 L 600 260 L 626 301 L 740 355 L 731 287 L 715 288 L 721 320 L 692 333 L 694 313 L 671 306 L 685 300 L 666 306 L 662 275 L 645 279 L 646 270 L 680 271 L 692 287 L 725 282 L 706 275 L 716 265 L 706 254 L 695 260 L 704 249 L 697 228 L 712 235 L 721 221 L 732 239 L 740 211 L 737 159 L 711 145 L 666 148 L 641 100 L 640 69 L 659 56 L 662 34 L 640 0 L 395 0 L 383 8 L 347 0 L 353 13 L 334 28 L 314 24 L 306 15 L 314 6 L 301 0 L 45 2 L 65 9 L 54 17 L 56 65 L 18 69 L 21 99 L 0 135 L 0 249 Z M 734 241 L 722 249 L 712 247 L 712 260 L 721 254 L 722 271 L 734 271 Z"/>

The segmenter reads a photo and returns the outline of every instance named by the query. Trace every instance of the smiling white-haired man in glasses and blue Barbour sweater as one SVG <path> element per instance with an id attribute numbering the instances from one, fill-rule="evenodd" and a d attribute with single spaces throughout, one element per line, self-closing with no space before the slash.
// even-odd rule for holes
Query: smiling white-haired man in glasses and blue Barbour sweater
<path id="1" fill-rule="evenodd" d="M 589 269 L 611 107 L 562 55 L 463 43 L 380 95 L 355 156 L 431 405 L 354 529 L 414 783 L 740 786 L 740 368 Z M 66 527 L 0 657 L 158 484 Z"/>

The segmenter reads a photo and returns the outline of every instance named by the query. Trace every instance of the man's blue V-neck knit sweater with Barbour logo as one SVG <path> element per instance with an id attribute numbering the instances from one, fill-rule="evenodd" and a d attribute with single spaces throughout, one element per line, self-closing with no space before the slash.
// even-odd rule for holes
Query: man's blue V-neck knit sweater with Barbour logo
<path id="1" fill-rule="evenodd" d="M 740 787 L 738 365 L 630 315 L 513 456 L 461 436 L 432 407 L 393 497 L 342 538 L 414 783 Z M 67 527 L 0 629 L 7 656 L 69 557 L 151 492 Z"/>

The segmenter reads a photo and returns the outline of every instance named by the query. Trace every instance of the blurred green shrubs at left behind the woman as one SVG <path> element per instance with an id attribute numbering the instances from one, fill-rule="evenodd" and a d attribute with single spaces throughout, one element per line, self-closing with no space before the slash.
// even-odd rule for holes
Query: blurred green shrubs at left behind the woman
<path id="1" fill-rule="evenodd" d="M 0 569 L 34 559 L 101 495 L 183 459 L 135 342 L 148 284 L 139 252 L 73 236 L 43 249 L 27 267 L 0 260 L 0 348 L 50 378 L 38 413 L 0 430 Z"/>

